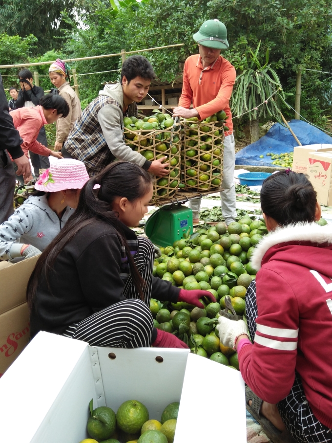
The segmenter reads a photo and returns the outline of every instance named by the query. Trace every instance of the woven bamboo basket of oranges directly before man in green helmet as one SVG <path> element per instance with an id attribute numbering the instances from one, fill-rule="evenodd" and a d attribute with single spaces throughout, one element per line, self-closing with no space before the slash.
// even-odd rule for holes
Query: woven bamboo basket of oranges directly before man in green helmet
<path id="1" fill-rule="evenodd" d="M 222 122 L 185 121 L 181 155 L 186 190 L 209 191 L 223 181 L 224 130 Z"/>

